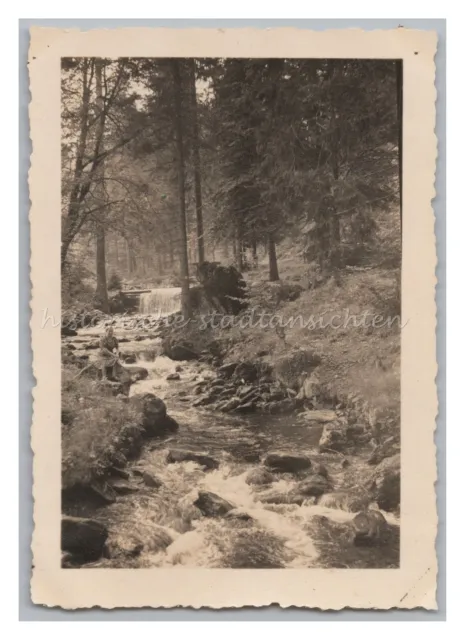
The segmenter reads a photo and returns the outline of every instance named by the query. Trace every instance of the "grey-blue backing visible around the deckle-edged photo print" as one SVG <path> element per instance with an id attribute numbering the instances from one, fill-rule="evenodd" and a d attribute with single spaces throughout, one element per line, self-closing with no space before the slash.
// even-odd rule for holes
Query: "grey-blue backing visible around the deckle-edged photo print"
<path id="1" fill-rule="evenodd" d="M 29 240 L 28 222 L 29 192 L 27 174 L 31 142 L 29 139 L 28 104 L 29 78 L 27 73 L 27 52 L 29 47 L 29 28 L 31 26 L 99 29 L 118 27 L 172 27 L 172 28 L 234 28 L 254 27 L 296 27 L 323 31 L 359 27 L 362 29 L 393 29 L 402 25 L 406 28 L 434 30 L 438 34 L 436 55 L 437 115 L 436 135 L 438 138 L 438 161 L 436 167 L 436 198 L 433 201 L 436 216 L 435 232 L 438 266 L 436 270 L 438 284 L 437 301 L 437 387 L 439 397 L 439 415 L 437 419 L 436 446 L 438 463 L 438 482 L 436 485 L 438 501 L 438 537 L 436 548 L 439 561 L 438 606 L 437 612 L 414 611 L 340 611 L 324 612 L 307 609 L 280 609 L 278 606 L 267 608 L 223 609 L 138 609 L 138 610 L 82 610 L 67 612 L 57 608 L 35 606 L 31 602 L 29 580 L 31 571 L 32 536 L 32 451 L 30 448 L 30 426 L 32 418 L 31 390 L 34 385 L 32 376 L 32 351 L 30 343 L 30 276 L 29 276 Z M 446 21 L 444 19 L 372 19 L 372 20 L 103 20 L 103 19 L 21 19 L 19 20 L 19 620 L 21 621 L 71 621 L 71 620 L 164 620 L 164 621 L 399 621 L 399 620 L 445 620 L 446 619 Z"/>

